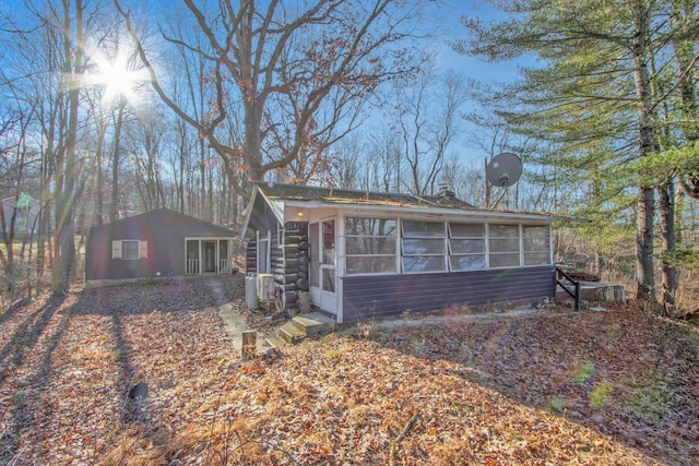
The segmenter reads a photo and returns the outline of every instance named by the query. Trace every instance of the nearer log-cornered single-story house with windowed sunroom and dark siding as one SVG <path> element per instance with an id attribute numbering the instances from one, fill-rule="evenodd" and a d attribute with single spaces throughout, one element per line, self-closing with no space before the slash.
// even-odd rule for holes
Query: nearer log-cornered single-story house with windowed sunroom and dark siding
<path id="1" fill-rule="evenodd" d="M 256 182 L 246 272 L 289 313 L 337 322 L 553 297 L 552 217 L 411 195 Z M 303 299 L 301 299 L 303 298 Z"/>

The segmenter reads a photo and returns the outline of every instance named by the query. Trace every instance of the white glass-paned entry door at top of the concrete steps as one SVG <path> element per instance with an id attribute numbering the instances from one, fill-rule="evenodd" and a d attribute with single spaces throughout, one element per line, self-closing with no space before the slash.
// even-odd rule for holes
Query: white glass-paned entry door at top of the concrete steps
<path id="1" fill-rule="evenodd" d="M 335 220 L 312 223 L 308 228 L 310 243 L 311 300 L 328 312 L 335 312 Z"/>

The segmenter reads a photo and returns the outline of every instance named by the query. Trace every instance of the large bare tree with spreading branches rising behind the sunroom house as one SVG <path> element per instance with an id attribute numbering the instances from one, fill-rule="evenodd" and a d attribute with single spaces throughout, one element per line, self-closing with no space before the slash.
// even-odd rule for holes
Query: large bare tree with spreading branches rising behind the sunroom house
<path id="1" fill-rule="evenodd" d="M 377 86 L 422 64 L 410 49 L 419 24 L 418 3 L 316 0 L 301 7 L 272 0 L 262 7 L 251 0 L 221 0 L 210 11 L 186 0 L 206 48 L 165 31 L 163 36 L 208 64 L 215 92 L 204 119 L 168 94 L 131 15 L 118 1 L 117 8 L 161 98 L 208 140 L 236 191 L 247 196 L 236 171 L 244 170 L 245 180 L 262 179 L 305 157 L 308 177 L 313 171 L 308 164 L 313 168 L 322 150 L 352 129 L 362 103 Z M 232 100 L 241 109 L 240 144 L 221 131 L 236 111 Z"/>

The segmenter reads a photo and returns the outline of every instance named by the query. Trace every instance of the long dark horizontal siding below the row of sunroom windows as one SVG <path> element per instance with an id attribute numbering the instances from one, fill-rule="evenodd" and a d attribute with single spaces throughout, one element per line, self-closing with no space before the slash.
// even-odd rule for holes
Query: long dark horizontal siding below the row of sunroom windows
<path id="1" fill-rule="evenodd" d="M 554 294 L 550 266 L 388 276 L 350 276 L 343 282 L 343 320 L 356 322 L 427 312 L 451 306 L 540 298 Z"/>

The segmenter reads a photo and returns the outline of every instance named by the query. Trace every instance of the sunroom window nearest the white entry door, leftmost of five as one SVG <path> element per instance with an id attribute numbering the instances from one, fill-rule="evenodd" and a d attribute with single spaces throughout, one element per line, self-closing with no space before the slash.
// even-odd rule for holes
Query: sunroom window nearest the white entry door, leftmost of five
<path id="1" fill-rule="evenodd" d="M 394 218 L 345 218 L 347 275 L 396 272 Z"/>

